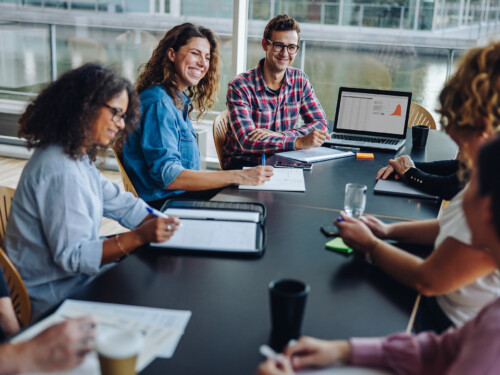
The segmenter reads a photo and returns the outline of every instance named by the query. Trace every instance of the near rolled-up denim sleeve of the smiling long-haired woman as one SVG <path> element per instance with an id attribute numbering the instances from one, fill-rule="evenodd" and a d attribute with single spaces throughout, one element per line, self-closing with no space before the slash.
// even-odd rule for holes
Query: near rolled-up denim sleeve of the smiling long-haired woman
<path id="1" fill-rule="evenodd" d="M 178 149 L 180 130 L 176 116 L 162 100 L 142 106 L 143 126 L 141 148 L 149 168 L 149 175 L 162 188 L 169 186 L 184 170 Z"/>

